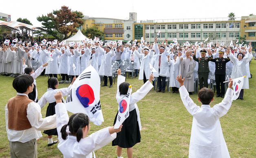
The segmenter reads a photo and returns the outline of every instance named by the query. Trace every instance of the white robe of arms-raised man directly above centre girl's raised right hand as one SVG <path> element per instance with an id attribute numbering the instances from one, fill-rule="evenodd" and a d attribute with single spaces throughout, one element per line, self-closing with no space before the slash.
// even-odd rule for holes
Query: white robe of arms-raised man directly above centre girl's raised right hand
<path id="1" fill-rule="evenodd" d="M 135 50 L 133 53 L 135 53 L 135 55 L 139 57 L 139 59 L 141 59 L 141 64 L 139 68 L 139 79 L 143 79 L 143 72 L 145 72 L 146 79 L 149 79 L 151 74 L 149 63 L 153 57 L 154 52 L 149 51 L 148 55 L 146 56 L 145 54 L 139 53 L 137 50 Z"/>

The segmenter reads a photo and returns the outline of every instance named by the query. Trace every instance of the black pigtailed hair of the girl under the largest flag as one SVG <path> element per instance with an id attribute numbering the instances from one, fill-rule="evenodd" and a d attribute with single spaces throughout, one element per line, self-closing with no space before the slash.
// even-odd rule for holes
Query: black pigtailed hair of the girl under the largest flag
<path id="1" fill-rule="evenodd" d="M 66 140 L 68 133 L 66 132 L 66 128 L 68 126 L 71 134 L 77 136 L 77 142 L 79 142 L 83 138 L 83 130 L 82 128 L 89 125 L 89 117 L 83 113 L 77 113 L 70 116 L 68 120 L 68 124 L 62 126 L 60 132 L 62 139 Z"/>

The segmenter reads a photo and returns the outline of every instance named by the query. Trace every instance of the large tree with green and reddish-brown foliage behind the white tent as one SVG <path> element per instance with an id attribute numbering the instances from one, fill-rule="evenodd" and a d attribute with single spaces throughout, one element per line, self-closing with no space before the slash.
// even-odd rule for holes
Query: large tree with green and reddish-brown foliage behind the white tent
<path id="1" fill-rule="evenodd" d="M 65 40 L 77 31 L 77 27 L 84 24 L 83 17 L 82 12 L 71 11 L 68 7 L 62 6 L 60 10 L 53 10 L 52 13 L 38 16 L 37 20 L 42 22 L 42 27 L 46 29 L 47 33 L 57 39 L 60 39 L 57 34 L 61 33 Z"/>

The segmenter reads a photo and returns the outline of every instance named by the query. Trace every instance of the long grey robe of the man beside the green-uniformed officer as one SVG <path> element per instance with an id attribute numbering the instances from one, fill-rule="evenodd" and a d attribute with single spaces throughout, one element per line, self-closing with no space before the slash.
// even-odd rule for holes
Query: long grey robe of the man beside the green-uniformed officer
<path id="1" fill-rule="evenodd" d="M 196 61 L 187 57 L 181 61 L 180 74 L 182 78 L 185 78 L 184 85 L 188 92 L 194 92 L 194 68 L 196 67 Z"/>

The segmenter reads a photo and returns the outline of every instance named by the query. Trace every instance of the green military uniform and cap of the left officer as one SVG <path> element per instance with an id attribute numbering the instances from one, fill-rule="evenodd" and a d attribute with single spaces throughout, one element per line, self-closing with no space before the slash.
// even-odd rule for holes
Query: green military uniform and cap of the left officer
<path id="1" fill-rule="evenodd" d="M 206 53 L 206 50 L 200 50 L 201 54 Z M 209 61 L 212 57 L 196 58 L 193 56 L 194 61 L 198 62 L 198 78 L 199 78 L 199 88 L 206 87 L 208 88 L 208 76 L 209 76 Z"/>

